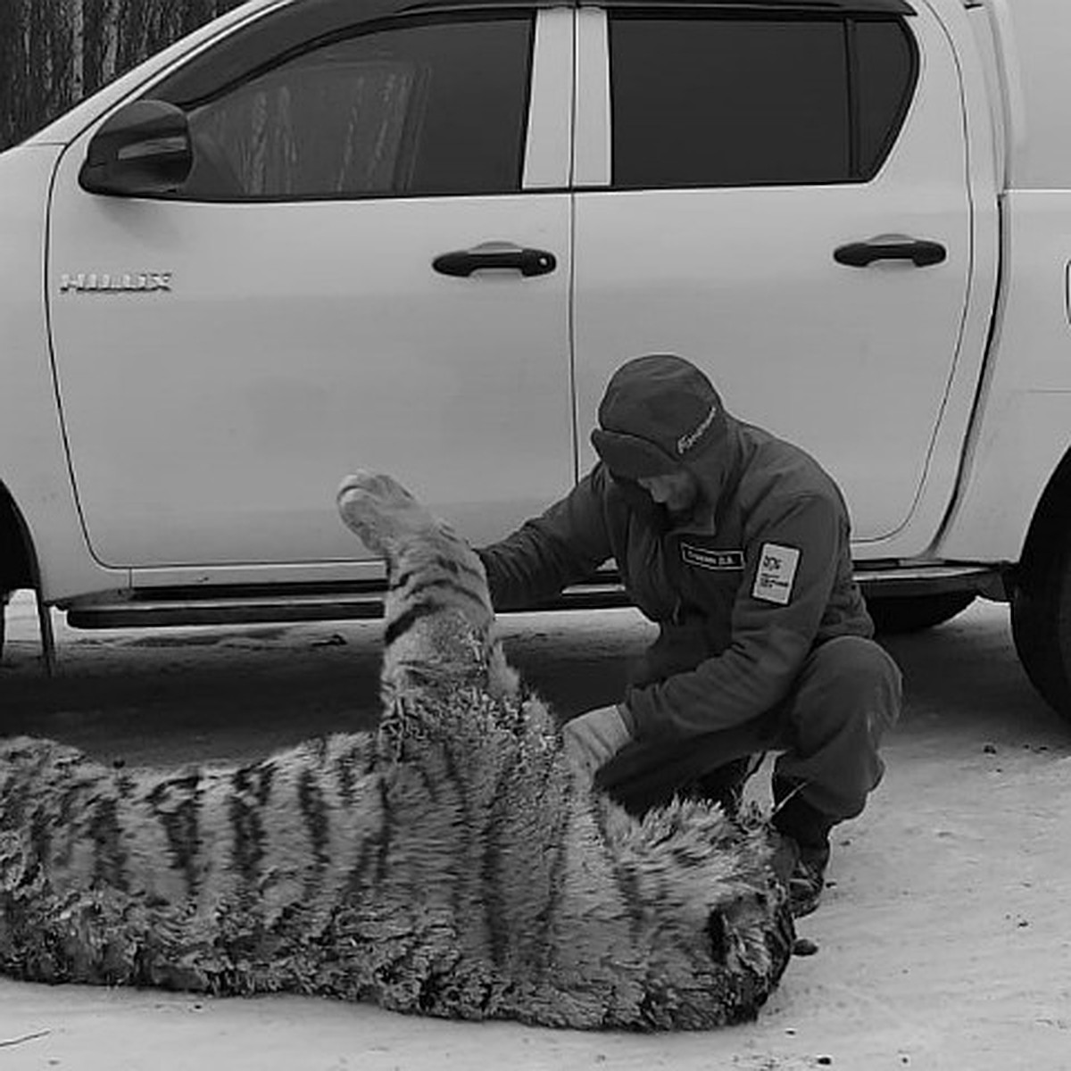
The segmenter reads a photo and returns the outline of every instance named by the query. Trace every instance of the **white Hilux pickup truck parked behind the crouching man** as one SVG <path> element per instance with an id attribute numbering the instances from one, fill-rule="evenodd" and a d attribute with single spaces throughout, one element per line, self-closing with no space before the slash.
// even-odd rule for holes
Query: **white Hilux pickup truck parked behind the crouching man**
<path id="1" fill-rule="evenodd" d="M 1069 57 L 1068 0 L 252 0 L 0 154 L 0 598 L 374 614 L 341 477 L 491 541 L 676 352 L 879 622 L 1010 600 L 1071 716 Z"/>

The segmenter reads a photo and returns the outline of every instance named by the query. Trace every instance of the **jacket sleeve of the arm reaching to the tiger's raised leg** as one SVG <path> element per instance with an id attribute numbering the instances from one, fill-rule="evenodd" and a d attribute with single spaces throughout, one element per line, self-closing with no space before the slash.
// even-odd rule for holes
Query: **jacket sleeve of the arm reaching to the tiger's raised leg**
<path id="1" fill-rule="evenodd" d="M 589 577 L 613 556 L 597 466 L 559 502 L 477 553 L 496 609 L 533 606 Z"/>

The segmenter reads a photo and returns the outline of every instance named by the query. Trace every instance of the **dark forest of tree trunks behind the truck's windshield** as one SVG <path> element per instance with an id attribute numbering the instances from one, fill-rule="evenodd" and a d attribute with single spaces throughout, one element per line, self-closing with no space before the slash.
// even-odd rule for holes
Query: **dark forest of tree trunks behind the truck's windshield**
<path id="1" fill-rule="evenodd" d="M 0 0 L 0 150 L 241 0 Z"/>

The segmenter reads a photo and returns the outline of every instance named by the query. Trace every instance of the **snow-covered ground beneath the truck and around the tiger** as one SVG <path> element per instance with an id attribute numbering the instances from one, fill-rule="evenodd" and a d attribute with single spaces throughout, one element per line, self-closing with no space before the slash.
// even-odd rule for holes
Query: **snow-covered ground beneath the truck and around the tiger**
<path id="1" fill-rule="evenodd" d="M 56 620 L 48 681 L 32 602 L 10 612 L 6 733 L 172 765 L 374 722 L 375 622 L 93 633 Z M 563 714 L 613 700 L 650 635 L 631 610 L 503 627 L 514 664 Z M 886 781 L 834 834 L 831 887 L 799 925 L 818 952 L 794 959 L 754 1024 L 583 1034 L 0 979 L 0 1071 L 1069 1069 L 1071 724 L 1023 676 L 1005 607 L 976 603 L 889 648 L 907 705 Z"/>

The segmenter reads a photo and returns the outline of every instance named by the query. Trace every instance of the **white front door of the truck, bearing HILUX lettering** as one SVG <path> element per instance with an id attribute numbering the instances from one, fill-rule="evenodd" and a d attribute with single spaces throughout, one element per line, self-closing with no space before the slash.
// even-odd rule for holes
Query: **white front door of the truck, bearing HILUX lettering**
<path id="1" fill-rule="evenodd" d="M 571 483 L 571 15 L 360 6 L 282 9 L 217 73 L 209 51 L 146 90 L 193 133 L 174 196 L 80 188 L 91 131 L 62 161 L 58 389 L 109 565 L 352 558 L 334 492 L 358 467 L 474 540 Z"/>

